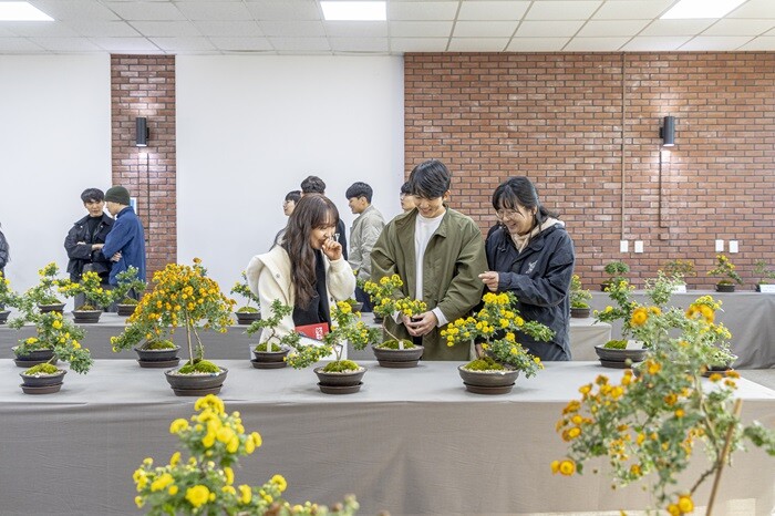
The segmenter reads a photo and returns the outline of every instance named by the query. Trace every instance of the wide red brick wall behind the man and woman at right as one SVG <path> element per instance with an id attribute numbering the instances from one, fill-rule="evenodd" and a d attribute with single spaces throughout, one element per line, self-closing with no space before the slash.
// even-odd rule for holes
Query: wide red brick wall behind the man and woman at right
<path id="1" fill-rule="evenodd" d="M 754 261 L 775 267 L 775 53 L 406 54 L 404 73 L 406 171 L 444 161 L 452 207 L 483 230 L 497 184 L 530 177 L 587 288 L 613 259 L 642 286 L 680 258 L 710 289 L 715 239 L 738 241 L 744 289 Z M 669 114 L 676 145 L 661 151 Z"/>

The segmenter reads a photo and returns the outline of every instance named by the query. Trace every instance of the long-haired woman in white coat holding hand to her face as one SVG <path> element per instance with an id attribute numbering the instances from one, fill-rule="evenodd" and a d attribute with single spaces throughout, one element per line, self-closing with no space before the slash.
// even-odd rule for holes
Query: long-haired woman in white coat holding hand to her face
<path id="1" fill-rule="evenodd" d="M 275 299 L 293 307 L 277 328 L 280 336 L 300 326 L 330 326 L 331 303 L 353 296 L 355 276 L 335 238 L 338 221 L 329 198 L 304 195 L 288 219 L 282 244 L 248 264 L 248 285 L 260 299 L 262 318 L 271 317 Z"/>

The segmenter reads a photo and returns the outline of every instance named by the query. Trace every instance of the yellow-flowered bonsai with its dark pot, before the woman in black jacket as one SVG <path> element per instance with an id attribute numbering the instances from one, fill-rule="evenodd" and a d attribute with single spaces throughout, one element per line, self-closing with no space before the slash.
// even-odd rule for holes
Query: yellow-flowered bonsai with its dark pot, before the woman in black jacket
<path id="1" fill-rule="evenodd" d="M 474 316 L 451 322 L 442 330 L 447 345 L 478 342 L 482 354 L 458 367 L 466 390 L 477 394 L 504 394 L 512 390 L 520 372 L 534 376 L 544 368 L 540 359 L 518 342 L 520 333 L 539 341 L 549 341 L 554 332 L 536 321 L 525 321 L 517 311 L 512 292 L 487 292 L 484 306 Z"/>

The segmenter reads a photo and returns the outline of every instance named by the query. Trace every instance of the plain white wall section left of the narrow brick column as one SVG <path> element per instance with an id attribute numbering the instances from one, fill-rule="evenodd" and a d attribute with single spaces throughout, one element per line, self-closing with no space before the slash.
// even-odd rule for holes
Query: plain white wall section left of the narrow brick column
<path id="1" fill-rule="evenodd" d="M 108 55 L 0 55 L 0 223 L 16 290 L 50 261 L 66 267 L 81 192 L 111 186 L 110 81 Z"/>

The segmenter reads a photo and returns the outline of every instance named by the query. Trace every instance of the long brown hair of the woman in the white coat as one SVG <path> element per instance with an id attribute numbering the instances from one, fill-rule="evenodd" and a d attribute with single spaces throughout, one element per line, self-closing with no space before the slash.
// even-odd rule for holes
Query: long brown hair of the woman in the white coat
<path id="1" fill-rule="evenodd" d="M 314 249 L 310 245 L 312 229 L 335 226 L 339 223 L 337 206 L 320 194 L 304 194 L 288 218 L 282 248 L 291 262 L 291 281 L 296 305 L 308 307 L 314 297 Z"/>

